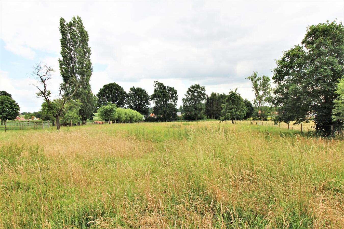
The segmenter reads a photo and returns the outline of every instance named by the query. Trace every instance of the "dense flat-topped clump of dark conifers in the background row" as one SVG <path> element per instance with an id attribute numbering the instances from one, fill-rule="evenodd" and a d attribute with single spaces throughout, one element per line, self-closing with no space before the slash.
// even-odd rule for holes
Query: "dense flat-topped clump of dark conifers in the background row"
<path id="1" fill-rule="evenodd" d="M 209 118 L 219 119 L 221 116 L 223 100 L 226 98 L 225 93 L 212 92 L 205 100 L 205 115 Z"/>

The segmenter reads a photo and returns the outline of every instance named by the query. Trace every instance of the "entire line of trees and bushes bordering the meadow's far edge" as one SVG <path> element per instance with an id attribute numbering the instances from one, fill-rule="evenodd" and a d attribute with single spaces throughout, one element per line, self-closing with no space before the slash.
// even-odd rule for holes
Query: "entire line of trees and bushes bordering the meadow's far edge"
<path id="1" fill-rule="evenodd" d="M 88 33 L 81 18 L 73 17 L 70 22 L 60 19 L 61 56 L 59 59 L 59 96 L 51 99 L 47 83 L 52 68 L 47 65 L 33 71 L 39 85 L 37 96 L 44 99 L 41 115 L 44 120 L 55 120 L 57 129 L 60 122 L 85 123 L 92 120 L 93 113 L 112 111 L 101 115 L 112 122 L 135 122 L 151 112 L 157 120 L 177 120 L 180 111 L 186 120 L 215 118 L 241 120 L 245 118 L 266 119 L 274 116 L 275 122 L 307 122 L 314 118 L 318 133 L 329 135 L 333 126 L 343 125 L 344 121 L 344 28 L 342 23 L 326 22 L 307 28 L 301 45 L 291 47 L 276 60 L 272 69 L 270 85 L 268 76 L 258 76 L 253 72 L 247 79 L 252 83 L 255 94 L 253 104 L 243 99 L 237 90 L 228 94 L 212 92 L 209 96 L 201 85 L 192 85 L 184 95 L 183 105 L 177 108 L 177 91 L 159 81 L 154 82 L 154 92 L 149 95 L 142 88 L 130 88 L 125 92 L 117 83 L 103 86 L 94 95 L 89 80 L 92 76 Z M 116 107 L 116 109 L 115 109 Z M 127 108 L 119 110 L 119 108 Z M 111 110 L 110 109 L 110 110 Z M 136 111 L 137 113 L 133 113 Z M 122 113 L 125 113 L 124 115 Z M 141 118 L 139 118 L 140 113 Z M 0 119 L 14 119 L 19 115 L 19 106 L 11 96 L 0 95 Z"/>

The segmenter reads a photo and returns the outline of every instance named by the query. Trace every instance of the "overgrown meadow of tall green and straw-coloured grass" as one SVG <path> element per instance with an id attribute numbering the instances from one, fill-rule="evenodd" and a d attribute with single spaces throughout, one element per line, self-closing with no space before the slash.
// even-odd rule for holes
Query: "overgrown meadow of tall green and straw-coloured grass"
<path id="1" fill-rule="evenodd" d="M 344 227 L 344 141 L 236 123 L 2 131 L 0 228 Z"/>

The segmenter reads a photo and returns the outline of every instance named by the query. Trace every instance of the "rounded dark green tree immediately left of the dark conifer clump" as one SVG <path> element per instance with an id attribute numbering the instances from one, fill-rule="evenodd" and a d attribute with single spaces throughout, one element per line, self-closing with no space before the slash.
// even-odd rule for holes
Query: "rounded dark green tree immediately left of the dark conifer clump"
<path id="1" fill-rule="evenodd" d="M 199 84 L 191 85 L 182 99 L 184 108 L 184 119 L 197 120 L 202 118 L 206 98 L 205 88 Z"/>

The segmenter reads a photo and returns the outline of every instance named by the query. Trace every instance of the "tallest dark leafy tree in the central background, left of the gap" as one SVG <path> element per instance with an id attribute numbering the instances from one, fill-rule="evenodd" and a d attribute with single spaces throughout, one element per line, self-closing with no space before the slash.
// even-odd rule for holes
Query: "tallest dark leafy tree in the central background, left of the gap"
<path id="1" fill-rule="evenodd" d="M 177 90 L 173 87 L 165 86 L 159 81 L 154 81 L 154 93 L 151 95 L 154 102 L 153 113 L 159 120 L 176 120 L 177 116 Z"/>

